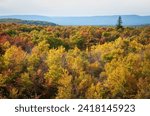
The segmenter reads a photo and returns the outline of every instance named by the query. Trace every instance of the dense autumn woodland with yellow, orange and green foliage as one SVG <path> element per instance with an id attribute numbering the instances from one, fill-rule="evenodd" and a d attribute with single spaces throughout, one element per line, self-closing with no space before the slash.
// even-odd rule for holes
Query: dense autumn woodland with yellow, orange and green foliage
<path id="1" fill-rule="evenodd" d="M 0 24 L 0 98 L 150 98 L 150 26 Z"/>

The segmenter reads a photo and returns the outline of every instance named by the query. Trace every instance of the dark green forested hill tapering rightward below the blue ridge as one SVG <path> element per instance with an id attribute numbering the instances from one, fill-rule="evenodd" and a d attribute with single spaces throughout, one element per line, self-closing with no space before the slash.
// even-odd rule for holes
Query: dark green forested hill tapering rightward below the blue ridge
<path id="1" fill-rule="evenodd" d="M 42 26 L 56 26 L 55 23 L 46 21 L 36 21 L 36 20 L 22 20 L 16 18 L 2 18 L 0 23 L 17 23 L 17 24 L 31 24 L 31 25 L 42 25 Z"/>

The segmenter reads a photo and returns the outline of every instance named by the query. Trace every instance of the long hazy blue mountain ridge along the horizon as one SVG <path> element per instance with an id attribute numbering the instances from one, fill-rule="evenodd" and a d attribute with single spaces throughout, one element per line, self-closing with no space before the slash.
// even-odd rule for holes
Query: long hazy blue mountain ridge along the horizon
<path id="1" fill-rule="evenodd" d="M 83 16 L 83 17 L 48 17 L 38 15 L 9 15 L 0 16 L 2 18 L 15 18 L 21 20 L 38 20 L 53 22 L 58 25 L 116 25 L 118 17 L 121 16 L 123 25 L 149 25 L 150 16 L 138 16 L 138 15 L 114 15 L 114 16 Z"/>

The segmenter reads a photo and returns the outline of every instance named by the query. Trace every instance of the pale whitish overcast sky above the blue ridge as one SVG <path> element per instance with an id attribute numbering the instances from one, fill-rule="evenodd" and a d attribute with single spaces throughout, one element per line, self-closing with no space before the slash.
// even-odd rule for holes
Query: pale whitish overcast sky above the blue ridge
<path id="1" fill-rule="evenodd" d="M 150 15 L 150 0 L 0 0 L 0 15 Z"/>

